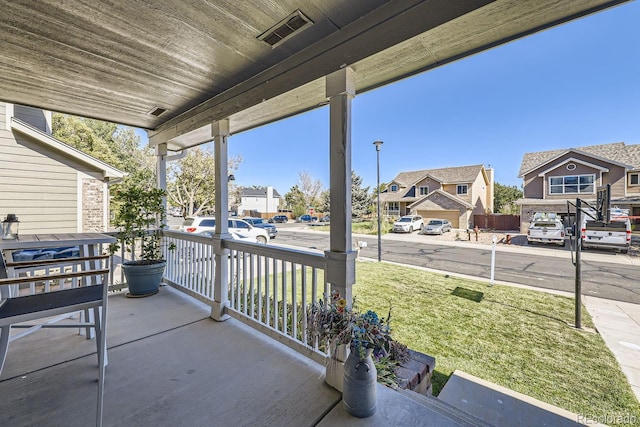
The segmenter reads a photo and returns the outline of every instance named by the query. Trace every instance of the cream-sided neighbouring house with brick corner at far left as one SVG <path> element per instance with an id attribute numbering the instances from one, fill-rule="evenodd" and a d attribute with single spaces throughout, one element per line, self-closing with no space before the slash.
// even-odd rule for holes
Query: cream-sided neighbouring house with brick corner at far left
<path id="1" fill-rule="evenodd" d="M 102 232 L 124 173 L 51 136 L 51 112 L 0 103 L 0 220 L 20 233 Z"/>

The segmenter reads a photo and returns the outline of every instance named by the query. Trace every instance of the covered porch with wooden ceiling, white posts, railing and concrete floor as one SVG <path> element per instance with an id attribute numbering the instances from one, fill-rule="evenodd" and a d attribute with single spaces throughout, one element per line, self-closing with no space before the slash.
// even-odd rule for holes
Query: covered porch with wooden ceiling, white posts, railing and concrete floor
<path id="1" fill-rule="evenodd" d="M 165 254 L 168 286 L 148 299 L 109 298 L 104 422 L 468 423 L 382 386 L 374 417 L 347 417 L 324 383 L 326 355 L 307 344 L 305 307 L 334 289 L 352 299 L 351 101 L 624 1 L 258 3 L 3 2 L 2 101 L 147 129 L 161 188 L 171 156 L 214 141 L 215 236 L 166 232 L 177 246 Z M 300 24 L 296 34 L 264 45 L 288 19 Z M 233 135 L 327 105 L 330 246 L 310 253 L 231 240 Z M 117 272 L 112 284 L 126 286 Z M 93 423 L 96 355 L 93 343 L 73 339 L 37 332 L 10 346 L 1 425 Z"/>

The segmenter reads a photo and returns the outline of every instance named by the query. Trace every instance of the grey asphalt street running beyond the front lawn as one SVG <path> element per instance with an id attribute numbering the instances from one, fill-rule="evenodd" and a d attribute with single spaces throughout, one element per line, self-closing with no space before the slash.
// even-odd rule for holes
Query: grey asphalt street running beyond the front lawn
<path id="1" fill-rule="evenodd" d="M 377 259 L 377 238 L 359 239 L 367 242 L 360 256 Z M 291 227 L 279 226 L 278 237 L 272 244 L 325 250 L 329 247 L 329 234 L 293 231 Z M 490 246 L 467 248 L 384 239 L 382 249 L 384 261 L 490 278 Z M 571 259 L 540 255 L 538 252 L 496 252 L 495 280 L 574 292 L 576 269 Z M 640 270 L 637 265 L 583 259 L 581 266 L 583 295 L 640 304 Z"/>

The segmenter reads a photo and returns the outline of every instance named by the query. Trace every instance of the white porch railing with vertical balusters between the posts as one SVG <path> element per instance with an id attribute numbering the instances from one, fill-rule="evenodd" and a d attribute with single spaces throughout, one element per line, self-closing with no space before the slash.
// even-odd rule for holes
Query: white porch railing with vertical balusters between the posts
<path id="1" fill-rule="evenodd" d="M 219 300 L 213 239 L 163 234 L 163 246 L 175 247 L 165 252 L 165 283 L 210 305 Z M 227 314 L 322 362 L 325 355 L 306 344 L 306 315 L 310 303 L 329 294 L 324 254 L 237 240 L 224 240 L 223 247 L 229 250 Z"/>

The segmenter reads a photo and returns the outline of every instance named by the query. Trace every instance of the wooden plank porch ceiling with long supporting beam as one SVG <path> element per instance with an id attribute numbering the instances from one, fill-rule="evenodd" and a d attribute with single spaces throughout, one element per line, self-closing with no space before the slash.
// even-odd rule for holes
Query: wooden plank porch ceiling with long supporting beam
<path id="1" fill-rule="evenodd" d="M 180 150 L 364 92 L 626 0 L 0 0 L 0 100 L 128 124 Z M 312 21 L 272 48 L 295 11 Z M 159 115 L 155 108 L 166 109 Z"/>

